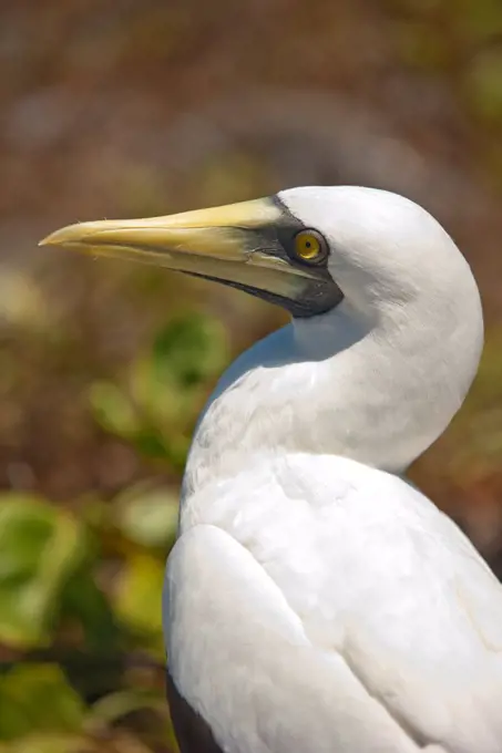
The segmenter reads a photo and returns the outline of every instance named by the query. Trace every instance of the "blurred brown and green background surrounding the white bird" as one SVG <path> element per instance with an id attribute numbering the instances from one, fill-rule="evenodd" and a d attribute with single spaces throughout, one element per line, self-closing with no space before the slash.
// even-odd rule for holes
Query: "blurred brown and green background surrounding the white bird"
<path id="1" fill-rule="evenodd" d="M 0 2 L 0 752 L 174 751 L 160 588 L 193 423 L 284 321 L 38 248 L 307 184 L 403 193 L 471 262 L 474 389 L 412 477 L 502 576 L 502 2 Z"/>

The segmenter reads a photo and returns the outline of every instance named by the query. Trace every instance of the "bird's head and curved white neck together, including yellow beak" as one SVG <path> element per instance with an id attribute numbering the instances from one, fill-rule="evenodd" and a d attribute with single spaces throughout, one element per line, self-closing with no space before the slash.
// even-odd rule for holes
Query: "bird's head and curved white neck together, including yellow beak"
<path id="1" fill-rule="evenodd" d="M 211 412 L 212 462 L 229 457 L 230 467 L 245 426 L 248 452 L 268 443 L 402 470 L 451 421 L 478 369 L 482 313 L 467 261 L 424 209 L 388 192 L 291 188 L 71 225 L 42 243 L 216 280 L 293 314 L 294 339 L 287 330 L 252 349 L 216 392 L 225 394 Z M 243 374 L 239 394 L 227 393 Z"/>

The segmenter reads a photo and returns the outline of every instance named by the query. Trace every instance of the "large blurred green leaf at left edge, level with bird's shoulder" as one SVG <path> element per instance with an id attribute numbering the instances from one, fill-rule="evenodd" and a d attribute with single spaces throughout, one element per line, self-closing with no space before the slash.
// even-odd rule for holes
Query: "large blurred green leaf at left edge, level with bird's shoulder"
<path id="1" fill-rule="evenodd" d="M 0 640 L 47 643 L 60 595 L 86 553 L 84 528 L 38 497 L 0 495 Z"/>

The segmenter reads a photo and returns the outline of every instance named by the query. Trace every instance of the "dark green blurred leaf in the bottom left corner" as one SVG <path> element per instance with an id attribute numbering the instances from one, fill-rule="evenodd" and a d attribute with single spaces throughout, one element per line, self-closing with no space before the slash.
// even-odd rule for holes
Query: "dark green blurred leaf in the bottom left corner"
<path id="1" fill-rule="evenodd" d="M 19 664 L 0 678 L 0 739 L 32 730 L 76 732 L 84 705 L 55 664 Z"/>

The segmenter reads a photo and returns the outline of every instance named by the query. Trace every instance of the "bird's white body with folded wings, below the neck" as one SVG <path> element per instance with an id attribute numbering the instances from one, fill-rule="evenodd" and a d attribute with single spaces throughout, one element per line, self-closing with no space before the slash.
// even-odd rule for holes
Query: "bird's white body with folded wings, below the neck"
<path id="1" fill-rule="evenodd" d="M 502 753 L 500 584 L 419 492 L 350 463 L 201 501 L 218 527 L 168 565 L 177 690 L 232 753 Z"/>

